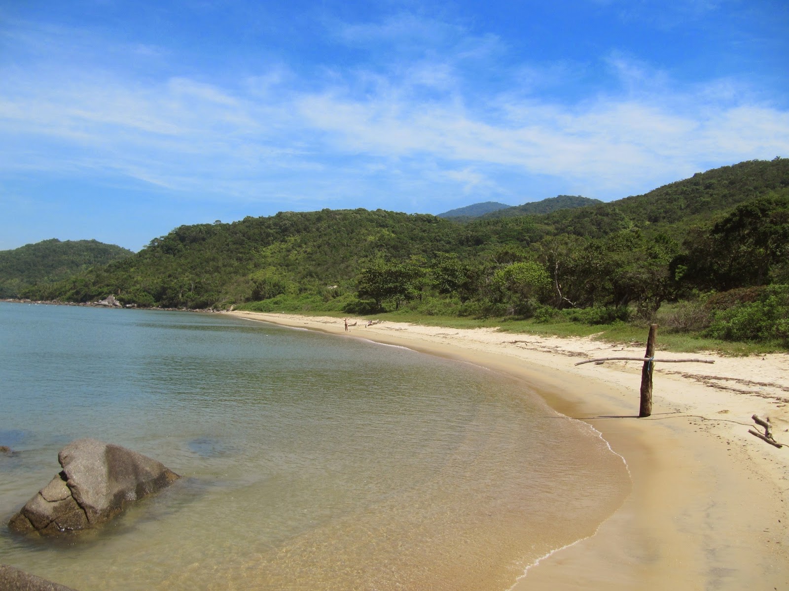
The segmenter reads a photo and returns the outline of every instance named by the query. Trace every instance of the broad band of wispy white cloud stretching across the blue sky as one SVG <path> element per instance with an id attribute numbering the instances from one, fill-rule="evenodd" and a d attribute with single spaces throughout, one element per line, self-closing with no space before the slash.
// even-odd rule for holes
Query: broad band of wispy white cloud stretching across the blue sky
<path id="1" fill-rule="evenodd" d="M 62 30 L 53 35 L 65 43 Z M 306 207 L 377 199 L 399 209 L 407 202 L 395 199 L 421 191 L 424 210 L 426 195 L 441 203 L 453 192 L 552 196 L 533 194 L 546 178 L 553 195 L 614 199 L 714 165 L 789 155 L 789 113 L 734 80 L 689 87 L 617 53 L 598 58 L 616 80 L 606 91 L 540 99 L 577 66 L 487 61 L 509 83 L 501 91 L 472 84 L 478 65 L 469 65 L 506 51 L 494 36 L 401 14 L 339 26 L 335 37 L 383 40 L 399 48 L 397 60 L 337 66 L 310 84 L 287 63 L 200 80 L 6 63 L 0 169 L 101 171 L 195 198 Z M 411 55 L 414 46 L 431 51 Z M 140 47 L 131 51 L 157 53 Z"/>

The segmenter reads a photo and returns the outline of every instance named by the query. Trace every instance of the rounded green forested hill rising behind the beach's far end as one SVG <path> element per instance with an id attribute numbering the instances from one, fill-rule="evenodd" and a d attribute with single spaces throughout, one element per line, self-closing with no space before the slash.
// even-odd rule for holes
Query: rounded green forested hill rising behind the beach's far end
<path id="1" fill-rule="evenodd" d="M 377 256 L 406 259 L 458 248 L 458 225 L 376 210 L 280 212 L 231 224 L 183 225 L 132 258 L 31 292 L 89 301 L 113 293 L 148 306 L 210 307 L 285 292 L 336 294 Z"/>

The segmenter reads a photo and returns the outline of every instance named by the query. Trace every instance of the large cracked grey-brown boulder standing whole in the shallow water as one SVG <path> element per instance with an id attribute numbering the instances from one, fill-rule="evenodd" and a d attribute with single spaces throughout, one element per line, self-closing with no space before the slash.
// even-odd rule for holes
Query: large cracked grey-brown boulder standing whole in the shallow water
<path id="1" fill-rule="evenodd" d="M 10 530 L 55 535 L 99 526 L 180 478 L 155 459 L 95 439 L 66 445 L 58 462 L 62 472 L 11 518 Z"/>

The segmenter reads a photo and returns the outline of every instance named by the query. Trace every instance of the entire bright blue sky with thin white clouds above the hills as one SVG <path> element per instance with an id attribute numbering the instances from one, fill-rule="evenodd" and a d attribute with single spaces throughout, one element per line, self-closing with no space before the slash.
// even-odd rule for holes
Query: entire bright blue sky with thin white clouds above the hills
<path id="1" fill-rule="evenodd" d="M 789 157 L 785 0 L 0 0 L 0 250 Z"/>

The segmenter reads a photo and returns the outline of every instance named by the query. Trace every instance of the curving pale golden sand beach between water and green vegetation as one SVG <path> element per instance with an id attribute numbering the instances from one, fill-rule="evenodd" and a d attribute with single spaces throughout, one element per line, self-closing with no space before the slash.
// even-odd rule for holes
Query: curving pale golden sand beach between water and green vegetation
<path id="1" fill-rule="evenodd" d="M 625 459 L 632 491 L 592 537 L 529 567 L 513 589 L 789 589 L 789 447 L 748 433 L 768 418 L 789 444 L 789 355 L 660 351 L 653 415 L 638 418 L 644 345 L 445 329 L 352 318 L 231 312 L 239 318 L 398 344 L 517 375 L 557 411 L 588 422 Z M 353 323 L 356 322 L 356 325 Z"/>

